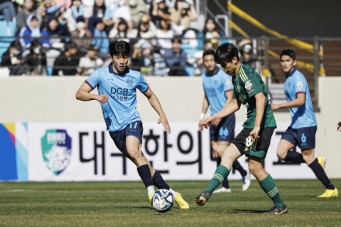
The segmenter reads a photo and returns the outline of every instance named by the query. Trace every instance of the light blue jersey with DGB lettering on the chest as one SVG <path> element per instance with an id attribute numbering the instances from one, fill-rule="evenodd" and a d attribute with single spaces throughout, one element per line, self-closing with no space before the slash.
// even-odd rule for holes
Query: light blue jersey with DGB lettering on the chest
<path id="1" fill-rule="evenodd" d="M 131 122 L 141 121 L 136 108 L 136 88 L 147 92 L 148 84 L 140 72 L 126 67 L 125 74 L 119 75 L 112 70 L 112 64 L 94 71 L 85 80 L 92 89 L 98 89 L 98 94 L 107 94 L 109 100 L 102 104 L 102 111 L 107 131 L 121 131 Z"/>

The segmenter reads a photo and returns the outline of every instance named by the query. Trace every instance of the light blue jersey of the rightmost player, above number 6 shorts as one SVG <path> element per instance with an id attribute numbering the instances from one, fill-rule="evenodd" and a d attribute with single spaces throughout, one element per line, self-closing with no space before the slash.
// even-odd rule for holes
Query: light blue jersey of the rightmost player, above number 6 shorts
<path id="1" fill-rule="evenodd" d="M 313 111 L 313 104 L 310 98 L 309 87 L 307 84 L 307 80 L 304 75 L 296 70 L 289 74 L 286 77 L 286 81 L 284 82 L 284 92 L 286 93 L 286 99 L 288 101 L 293 101 L 296 99 L 296 94 L 305 93 L 305 103 L 303 106 L 291 107 L 291 128 L 306 128 L 317 126 L 315 114 Z"/>

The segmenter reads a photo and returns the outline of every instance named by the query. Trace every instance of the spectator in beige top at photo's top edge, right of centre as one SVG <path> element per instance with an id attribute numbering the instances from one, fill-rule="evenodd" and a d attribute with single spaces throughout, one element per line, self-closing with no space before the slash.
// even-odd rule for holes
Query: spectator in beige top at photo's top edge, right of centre
<path id="1" fill-rule="evenodd" d="M 174 8 L 169 9 L 169 12 L 173 23 L 182 31 L 190 28 L 190 21 L 197 20 L 197 11 L 195 11 L 193 0 L 176 0 Z"/>

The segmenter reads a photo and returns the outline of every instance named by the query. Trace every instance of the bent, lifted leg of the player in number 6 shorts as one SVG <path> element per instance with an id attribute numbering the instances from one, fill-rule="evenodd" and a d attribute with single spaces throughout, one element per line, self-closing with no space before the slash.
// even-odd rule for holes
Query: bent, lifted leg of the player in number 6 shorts
<path id="1" fill-rule="evenodd" d="M 297 136 L 297 131 L 290 127 L 285 133 L 283 133 L 277 148 L 277 156 L 281 160 L 294 163 L 304 163 L 303 157 L 300 153 L 296 151 L 289 152 L 289 150 L 295 148 L 297 144 Z"/>

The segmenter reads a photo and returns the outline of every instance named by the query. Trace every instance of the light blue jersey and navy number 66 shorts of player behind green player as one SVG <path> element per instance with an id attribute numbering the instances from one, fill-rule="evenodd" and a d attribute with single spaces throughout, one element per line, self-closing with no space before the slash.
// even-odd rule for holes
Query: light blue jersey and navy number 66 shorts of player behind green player
<path id="1" fill-rule="evenodd" d="M 231 76 L 217 68 L 217 71 L 212 76 L 207 72 L 202 74 L 202 85 L 210 104 L 210 114 L 217 114 L 226 104 L 225 92 L 233 91 Z M 232 141 L 234 139 L 235 125 L 236 119 L 234 114 L 222 118 L 217 126 L 210 126 L 210 140 Z"/>

